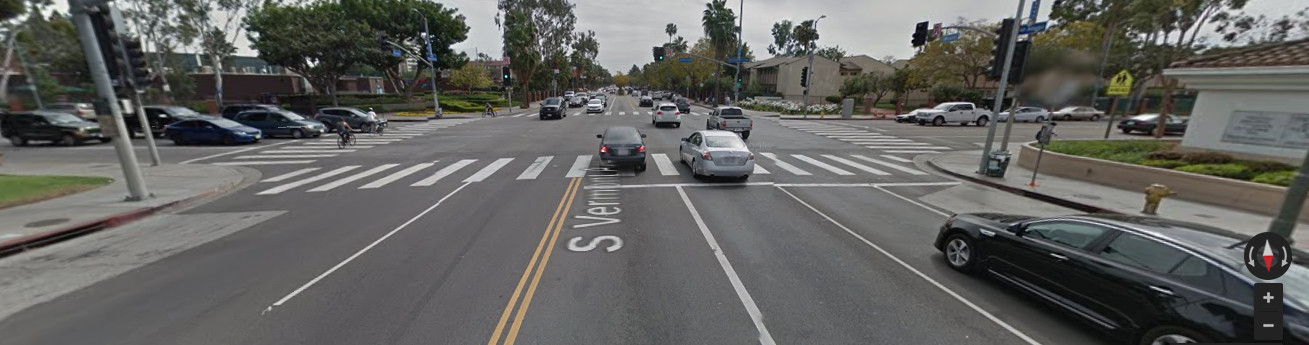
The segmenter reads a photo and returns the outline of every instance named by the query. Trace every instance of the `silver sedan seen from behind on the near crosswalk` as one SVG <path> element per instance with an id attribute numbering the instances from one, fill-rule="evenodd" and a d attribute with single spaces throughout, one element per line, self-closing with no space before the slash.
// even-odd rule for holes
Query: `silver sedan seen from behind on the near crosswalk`
<path id="1" fill-rule="evenodd" d="M 749 179 L 754 172 L 754 153 L 750 153 L 740 136 L 728 131 L 691 133 L 682 139 L 678 156 L 695 176 Z"/>

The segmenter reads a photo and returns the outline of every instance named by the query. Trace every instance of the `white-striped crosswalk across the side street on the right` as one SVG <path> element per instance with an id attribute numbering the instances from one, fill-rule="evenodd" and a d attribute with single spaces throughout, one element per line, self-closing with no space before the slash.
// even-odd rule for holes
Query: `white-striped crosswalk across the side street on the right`
<path id="1" fill-rule="evenodd" d="M 885 153 L 923 154 L 923 153 L 940 153 L 941 150 L 950 150 L 949 146 L 940 146 L 931 142 L 919 142 L 911 139 L 890 136 L 881 132 L 860 129 L 856 127 L 825 124 L 825 123 L 806 122 L 806 120 L 779 120 L 778 123 L 791 129 L 797 129 L 801 132 L 808 132 L 812 135 L 823 136 L 827 139 L 839 140 L 850 142 L 852 145 L 859 145 Z"/>

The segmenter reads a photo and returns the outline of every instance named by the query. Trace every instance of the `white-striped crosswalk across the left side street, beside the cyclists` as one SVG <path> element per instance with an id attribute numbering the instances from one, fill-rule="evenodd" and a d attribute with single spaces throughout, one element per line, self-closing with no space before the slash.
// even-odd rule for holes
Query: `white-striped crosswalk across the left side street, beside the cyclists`
<path id="1" fill-rule="evenodd" d="M 230 158 L 229 161 L 212 163 L 228 166 L 309 165 L 321 158 L 331 158 L 382 145 L 390 145 L 474 120 L 478 119 L 452 119 L 421 124 L 395 125 L 386 129 L 382 135 L 355 133 L 355 145 L 344 149 L 339 149 L 336 146 L 336 141 L 339 140 L 336 133 L 325 133 L 317 139 L 301 139 L 287 145 L 250 148 L 247 152 L 241 152 L 240 154 L 228 157 Z"/>

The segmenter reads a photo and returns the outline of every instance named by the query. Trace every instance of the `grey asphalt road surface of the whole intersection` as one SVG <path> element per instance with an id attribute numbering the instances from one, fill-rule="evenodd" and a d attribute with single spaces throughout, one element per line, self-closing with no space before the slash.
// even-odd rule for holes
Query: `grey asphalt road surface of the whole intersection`
<path id="1" fill-rule="evenodd" d="M 1107 344 L 931 247 L 948 212 L 922 199 L 957 183 L 912 159 L 975 129 L 757 118 L 761 170 L 699 180 L 677 149 L 707 110 L 647 111 L 178 153 L 263 172 L 186 214 L 284 213 L 16 314 L 3 342 Z M 596 162 L 610 125 L 648 135 L 649 170 Z"/>

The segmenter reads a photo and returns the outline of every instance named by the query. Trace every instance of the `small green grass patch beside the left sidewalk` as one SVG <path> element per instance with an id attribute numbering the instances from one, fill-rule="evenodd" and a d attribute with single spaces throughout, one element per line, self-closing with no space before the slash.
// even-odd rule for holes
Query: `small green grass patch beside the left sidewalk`
<path id="1" fill-rule="evenodd" d="M 0 175 L 0 209 L 93 189 L 113 180 L 90 176 Z"/>

